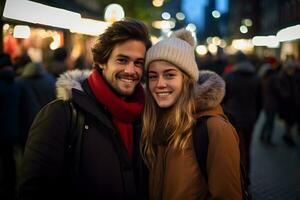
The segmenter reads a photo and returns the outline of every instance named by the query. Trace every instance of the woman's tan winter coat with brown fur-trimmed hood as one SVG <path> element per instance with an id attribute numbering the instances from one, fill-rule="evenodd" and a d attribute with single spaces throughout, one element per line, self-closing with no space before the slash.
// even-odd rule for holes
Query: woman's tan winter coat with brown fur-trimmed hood
<path id="1" fill-rule="evenodd" d="M 219 105 L 224 97 L 224 81 L 214 73 L 201 72 L 197 88 L 197 117 L 208 119 L 208 183 L 198 166 L 192 137 L 185 151 L 159 146 L 157 160 L 150 170 L 151 200 L 241 199 L 238 136 Z M 225 117 L 226 118 L 226 117 Z M 157 184 L 161 176 L 162 183 Z M 158 188 L 159 185 L 162 187 Z"/>

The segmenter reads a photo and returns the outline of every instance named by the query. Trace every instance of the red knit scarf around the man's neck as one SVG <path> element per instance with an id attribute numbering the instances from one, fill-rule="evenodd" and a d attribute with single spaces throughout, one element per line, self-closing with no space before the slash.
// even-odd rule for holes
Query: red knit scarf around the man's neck
<path id="1" fill-rule="evenodd" d="M 132 158 L 133 153 L 133 125 L 132 123 L 141 114 L 144 108 L 145 96 L 139 84 L 127 102 L 116 95 L 103 79 L 102 75 L 94 69 L 88 77 L 88 83 L 97 100 L 101 102 L 112 115 L 112 121 L 125 145 L 127 153 Z"/>

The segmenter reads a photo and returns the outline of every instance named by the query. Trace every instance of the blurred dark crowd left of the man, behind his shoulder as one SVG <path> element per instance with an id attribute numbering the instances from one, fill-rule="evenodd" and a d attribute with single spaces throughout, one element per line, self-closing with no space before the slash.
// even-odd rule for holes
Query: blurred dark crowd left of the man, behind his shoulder
<path id="1" fill-rule="evenodd" d="M 44 63 L 27 53 L 12 59 L 0 53 L 0 199 L 13 199 L 18 157 L 38 111 L 55 99 L 55 82 L 71 69 L 89 69 L 83 56 L 70 62 L 65 48 L 51 52 Z M 4 197 L 4 198 L 2 198 Z"/>

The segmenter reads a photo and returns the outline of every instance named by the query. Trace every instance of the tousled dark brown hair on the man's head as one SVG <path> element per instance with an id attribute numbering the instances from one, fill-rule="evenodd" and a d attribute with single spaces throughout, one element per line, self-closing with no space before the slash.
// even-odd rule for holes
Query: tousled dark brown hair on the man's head
<path id="1" fill-rule="evenodd" d="M 96 64 L 107 63 L 114 47 L 131 39 L 143 42 L 146 49 L 151 47 L 149 32 L 143 22 L 125 19 L 113 23 L 99 36 L 97 43 L 92 48 L 94 62 Z"/>

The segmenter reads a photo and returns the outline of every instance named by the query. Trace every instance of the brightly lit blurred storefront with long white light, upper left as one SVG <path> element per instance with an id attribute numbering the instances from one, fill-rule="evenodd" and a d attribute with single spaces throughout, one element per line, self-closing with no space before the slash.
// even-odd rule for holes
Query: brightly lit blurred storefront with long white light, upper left
<path id="1" fill-rule="evenodd" d="M 90 49 L 96 36 L 108 26 L 106 22 L 33 1 L 7 0 L 1 6 L 1 46 L 14 61 L 28 54 L 33 61 L 47 65 L 53 50 L 63 47 L 68 51 L 70 69 L 91 67 Z"/>

